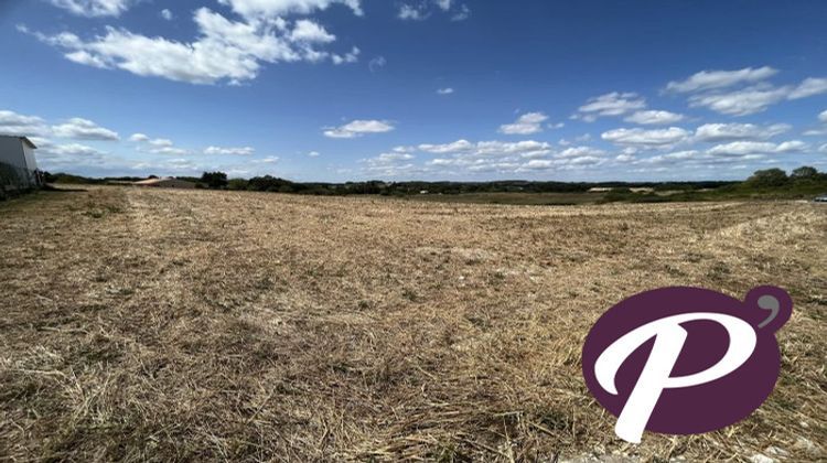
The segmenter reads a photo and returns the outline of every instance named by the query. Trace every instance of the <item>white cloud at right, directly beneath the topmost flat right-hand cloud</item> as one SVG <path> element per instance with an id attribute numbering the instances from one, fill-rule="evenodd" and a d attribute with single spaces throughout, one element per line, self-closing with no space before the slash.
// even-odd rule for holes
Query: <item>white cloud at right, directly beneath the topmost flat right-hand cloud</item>
<path id="1" fill-rule="evenodd" d="M 755 86 L 727 94 L 694 95 L 689 105 L 728 116 L 749 116 L 765 111 L 787 95 L 790 87 Z"/>

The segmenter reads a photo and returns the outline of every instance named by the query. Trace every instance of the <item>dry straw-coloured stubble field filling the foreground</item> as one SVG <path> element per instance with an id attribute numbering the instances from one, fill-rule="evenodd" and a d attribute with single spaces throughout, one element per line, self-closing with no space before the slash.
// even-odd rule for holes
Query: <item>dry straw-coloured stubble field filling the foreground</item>
<path id="1" fill-rule="evenodd" d="M 0 204 L 0 460 L 817 461 L 826 240 L 804 203 L 41 193 Z M 796 302 L 770 400 L 720 432 L 614 439 L 580 374 L 600 314 L 767 283 Z"/>

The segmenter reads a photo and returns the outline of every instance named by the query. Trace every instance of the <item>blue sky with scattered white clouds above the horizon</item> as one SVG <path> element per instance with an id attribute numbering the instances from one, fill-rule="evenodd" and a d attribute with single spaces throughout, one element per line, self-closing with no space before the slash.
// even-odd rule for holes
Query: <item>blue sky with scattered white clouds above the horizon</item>
<path id="1" fill-rule="evenodd" d="M 50 172 L 294 181 L 827 170 L 823 0 L 0 0 Z"/>

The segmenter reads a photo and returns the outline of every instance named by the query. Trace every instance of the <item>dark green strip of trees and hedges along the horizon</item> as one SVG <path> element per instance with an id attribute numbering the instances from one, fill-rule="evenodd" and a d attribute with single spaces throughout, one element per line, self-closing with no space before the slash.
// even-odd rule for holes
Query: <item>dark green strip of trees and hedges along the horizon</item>
<path id="1" fill-rule="evenodd" d="M 154 175 L 153 175 L 154 176 Z M 106 184 L 143 179 L 87 179 L 45 174 L 50 183 Z M 347 182 L 298 183 L 270 175 L 227 179 L 224 172 L 201 177 L 180 176 L 211 190 L 290 193 L 319 196 L 382 195 L 398 198 L 477 204 L 578 205 L 605 203 L 668 203 L 729 200 L 796 200 L 827 194 L 827 173 L 802 166 L 787 174 L 781 169 L 755 172 L 743 182 Z M 594 192 L 593 190 L 598 191 Z"/>

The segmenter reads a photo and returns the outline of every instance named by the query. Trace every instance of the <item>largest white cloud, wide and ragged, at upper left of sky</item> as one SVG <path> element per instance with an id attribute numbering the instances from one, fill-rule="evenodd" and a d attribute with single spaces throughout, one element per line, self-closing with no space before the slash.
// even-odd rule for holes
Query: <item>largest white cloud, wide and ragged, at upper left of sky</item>
<path id="1" fill-rule="evenodd" d="M 262 8 L 281 4 L 290 10 L 329 2 L 261 0 L 249 3 L 260 3 Z M 335 37 L 309 20 L 299 20 L 291 29 L 284 20 L 232 21 L 207 8 L 196 10 L 193 20 L 198 37 L 191 43 L 116 28 L 107 28 L 105 34 L 90 40 L 68 32 L 33 35 L 66 50 L 65 57 L 79 64 L 192 84 L 238 84 L 256 78 L 264 63 L 325 60 L 334 64 L 353 63 L 359 53 L 356 47 L 346 54 L 315 49 L 319 44 L 330 44 Z M 25 28 L 21 30 L 28 32 Z"/>

